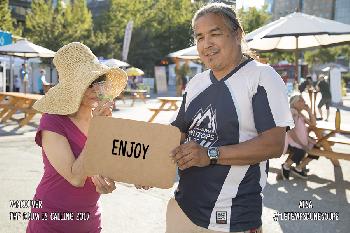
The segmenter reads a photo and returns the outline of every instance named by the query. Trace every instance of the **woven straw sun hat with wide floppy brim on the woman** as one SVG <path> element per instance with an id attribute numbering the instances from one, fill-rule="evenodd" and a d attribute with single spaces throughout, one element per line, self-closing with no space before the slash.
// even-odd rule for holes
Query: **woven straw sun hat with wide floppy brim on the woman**
<path id="1" fill-rule="evenodd" d="M 91 50 L 79 42 L 60 48 L 53 63 L 59 74 L 59 83 L 33 105 L 43 113 L 68 115 L 77 112 L 89 85 L 103 74 L 112 83 L 110 94 L 113 97 L 118 96 L 127 83 L 127 74 L 122 69 L 101 64 Z"/>

